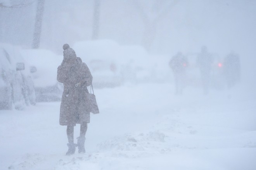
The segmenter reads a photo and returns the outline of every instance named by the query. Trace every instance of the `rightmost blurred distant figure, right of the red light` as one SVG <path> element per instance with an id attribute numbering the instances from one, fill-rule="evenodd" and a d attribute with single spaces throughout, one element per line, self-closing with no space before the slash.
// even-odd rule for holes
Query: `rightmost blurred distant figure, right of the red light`
<path id="1" fill-rule="evenodd" d="M 233 52 L 228 54 L 224 59 L 224 76 L 227 81 L 228 88 L 234 87 L 234 85 L 240 80 L 240 59 L 239 56 Z"/>

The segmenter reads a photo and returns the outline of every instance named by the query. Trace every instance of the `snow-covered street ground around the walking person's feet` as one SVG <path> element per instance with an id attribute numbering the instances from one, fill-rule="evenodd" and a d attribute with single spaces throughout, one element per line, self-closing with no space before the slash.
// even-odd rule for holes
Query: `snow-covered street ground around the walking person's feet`
<path id="1" fill-rule="evenodd" d="M 66 156 L 60 102 L 0 110 L 0 169 L 255 170 L 256 97 L 169 83 L 95 89 L 86 153 Z M 239 91 L 239 92 L 238 92 Z M 79 134 L 75 127 L 75 138 Z"/>

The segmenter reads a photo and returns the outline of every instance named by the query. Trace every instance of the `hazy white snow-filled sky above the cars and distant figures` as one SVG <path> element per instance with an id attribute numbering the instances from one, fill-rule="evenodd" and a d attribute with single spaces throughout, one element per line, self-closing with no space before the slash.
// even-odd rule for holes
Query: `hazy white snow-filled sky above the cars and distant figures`
<path id="1" fill-rule="evenodd" d="M 10 8 L 21 2 L 28 5 Z M 90 40 L 93 2 L 45 0 L 40 48 L 61 54 L 64 43 Z M 7 6 L 0 8 L 0 41 L 30 48 L 36 1 L 0 3 Z M 100 0 L 99 39 L 121 45 L 144 45 L 146 39 L 151 53 L 170 56 L 199 52 L 207 45 L 220 56 L 239 53 L 244 70 L 251 71 L 256 62 L 255 8 L 255 0 Z"/>

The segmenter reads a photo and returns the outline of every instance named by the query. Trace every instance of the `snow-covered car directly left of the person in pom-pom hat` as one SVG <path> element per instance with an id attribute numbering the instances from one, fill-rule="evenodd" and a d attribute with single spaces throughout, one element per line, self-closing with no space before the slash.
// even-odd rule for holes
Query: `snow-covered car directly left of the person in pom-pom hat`
<path id="1" fill-rule="evenodd" d="M 63 84 L 57 81 L 57 67 L 63 56 L 46 49 L 23 49 L 22 56 L 31 64 L 36 102 L 60 101 Z"/>

